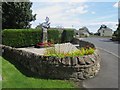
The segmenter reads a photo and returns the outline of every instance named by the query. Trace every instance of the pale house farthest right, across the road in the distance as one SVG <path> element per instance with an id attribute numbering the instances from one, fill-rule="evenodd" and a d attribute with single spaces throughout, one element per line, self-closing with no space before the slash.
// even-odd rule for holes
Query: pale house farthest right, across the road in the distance
<path id="1" fill-rule="evenodd" d="M 100 36 L 112 36 L 112 29 L 108 28 L 106 25 L 101 25 L 98 29 L 98 33 Z"/>

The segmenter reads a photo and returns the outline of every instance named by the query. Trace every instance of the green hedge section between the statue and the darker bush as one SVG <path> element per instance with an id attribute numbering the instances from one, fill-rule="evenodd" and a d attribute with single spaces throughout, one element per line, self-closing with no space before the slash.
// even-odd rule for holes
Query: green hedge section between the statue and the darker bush
<path id="1" fill-rule="evenodd" d="M 48 29 L 48 41 L 60 43 L 61 42 L 60 40 L 61 35 L 58 29 L 55 28 Z"/>

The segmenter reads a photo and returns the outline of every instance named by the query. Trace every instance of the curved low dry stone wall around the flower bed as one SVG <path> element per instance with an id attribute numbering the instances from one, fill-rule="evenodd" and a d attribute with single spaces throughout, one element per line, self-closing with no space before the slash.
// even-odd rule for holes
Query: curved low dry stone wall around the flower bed
<path id="1" fill-rule="evenodd" d="M 41 56 L 4 45 L 1 47 L 5 57 L 21 63 L 45 78 L 84 80 L 96 76 L 100 70 L 100 56 L 97 50 L 94 54 L 84 57 L 58 58 Z"/>

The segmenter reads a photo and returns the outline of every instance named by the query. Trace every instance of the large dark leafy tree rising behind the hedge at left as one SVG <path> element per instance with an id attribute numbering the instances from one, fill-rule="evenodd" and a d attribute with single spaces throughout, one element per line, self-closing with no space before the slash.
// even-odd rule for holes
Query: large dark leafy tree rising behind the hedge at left
<path id="1" fill-rule="evenodd" d="M 32 15 L 32 2 L 2 2 L 2 28 L 30 28 L 36 14 Z"/>

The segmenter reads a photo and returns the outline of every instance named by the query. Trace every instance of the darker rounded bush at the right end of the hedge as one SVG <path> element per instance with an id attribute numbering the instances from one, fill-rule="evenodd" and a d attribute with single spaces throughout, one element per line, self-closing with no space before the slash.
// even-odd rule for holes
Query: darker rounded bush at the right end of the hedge
<path id="1" fill-rule="evenodd" d="M 61 40 L 63 43 L 70 42 L 73 39 L 74 30 L 72 29 L 65 29 L 62 33 Z"/>

